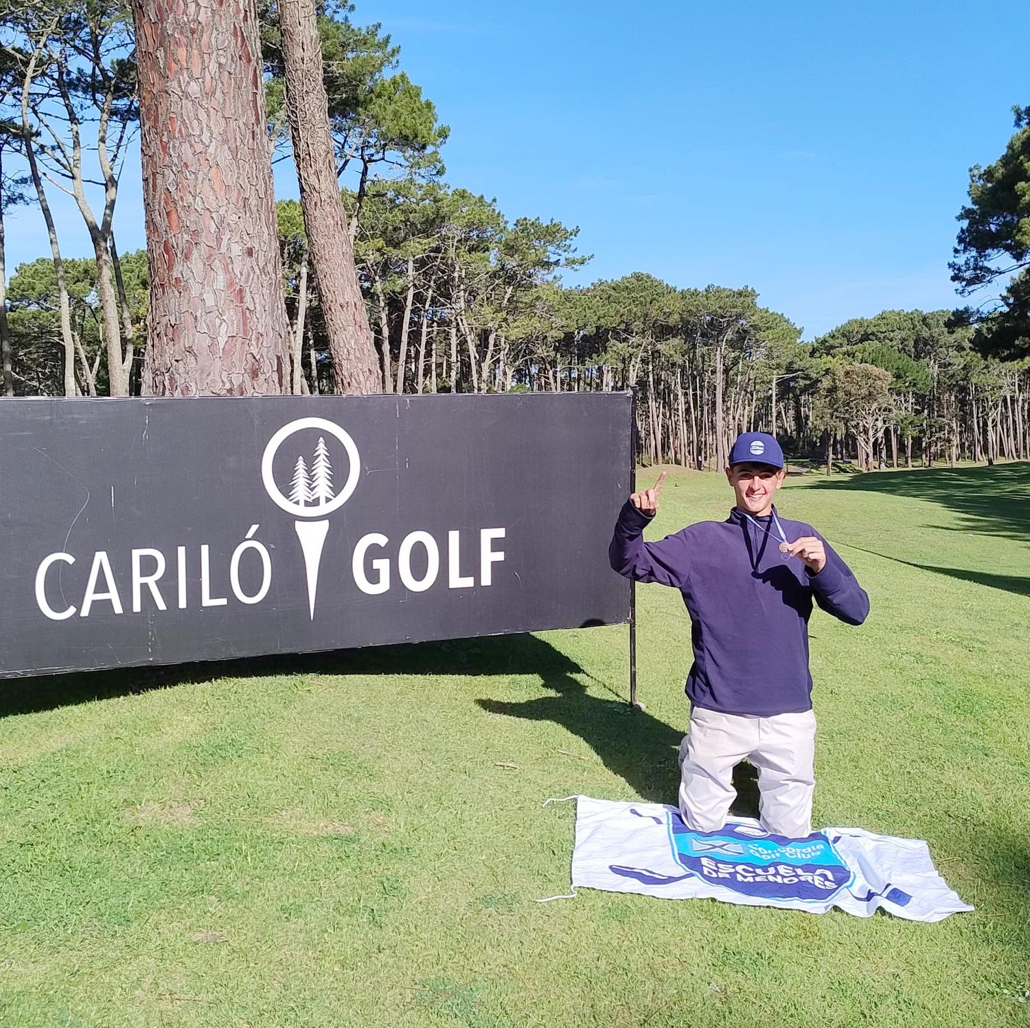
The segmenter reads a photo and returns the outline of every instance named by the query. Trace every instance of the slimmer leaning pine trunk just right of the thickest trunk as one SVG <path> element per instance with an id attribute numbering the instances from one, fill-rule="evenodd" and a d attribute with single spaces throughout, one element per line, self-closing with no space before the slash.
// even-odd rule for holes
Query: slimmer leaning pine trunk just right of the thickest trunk
<path id="1" fill-rule="evenodd" d="M 375 343 L 336 177 L 312 0 L 279 0 L 279 27 L 304 230 L 321 298 L 337 391 L 378 392 Z"/>

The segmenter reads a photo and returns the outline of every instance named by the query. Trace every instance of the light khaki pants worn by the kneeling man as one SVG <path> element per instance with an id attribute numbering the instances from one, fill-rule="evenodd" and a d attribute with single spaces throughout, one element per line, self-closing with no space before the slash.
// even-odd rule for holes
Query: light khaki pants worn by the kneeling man
<path id="1" fill-rule="evenodd" d="M 751 717 L 695 707 L 680 747 L 680 814 L 694 831 L 718 831 L 736 792 L 733 768 L 745 758 L 758 768 L 762 827 L 803 838 L 812 831 L 816 783 L 816 716 Z"/>

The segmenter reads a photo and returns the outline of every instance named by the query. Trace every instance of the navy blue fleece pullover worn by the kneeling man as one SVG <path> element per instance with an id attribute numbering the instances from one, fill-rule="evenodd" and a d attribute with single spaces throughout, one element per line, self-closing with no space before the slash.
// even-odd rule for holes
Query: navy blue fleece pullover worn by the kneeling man
<path id="1" fill-rule="evenodd" d="M 650 520 L 627 501 L 609 557 L 626 578 L 683 593 L 694 651 L 690 701 L 759 717 L 811 710 L 812 601 L 849 624 L 861 624 L 869 613 L 869 597 L 848 566 L 825 540 L 826 564 L 818 575 L 799 557 L 782 559 L 771 518 L 756 518 L 766 534 L 735 508 L 725 521 L 700 521 L 657 543 L 642 538 Z M 790 542 L 819 536 L 803 521 L 781 517 L 780 524 Z"/>

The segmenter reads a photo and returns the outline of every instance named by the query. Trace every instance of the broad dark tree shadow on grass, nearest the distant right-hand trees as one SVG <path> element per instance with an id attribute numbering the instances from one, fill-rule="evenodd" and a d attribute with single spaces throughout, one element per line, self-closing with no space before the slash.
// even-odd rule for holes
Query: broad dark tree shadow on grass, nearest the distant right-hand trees
<path id="1" fill-rule="evenodd" d="M 813 487 L 925 500 L 960 515 L 960 530 L 1030 541 L 1030 464 L 866 472 Z"/>

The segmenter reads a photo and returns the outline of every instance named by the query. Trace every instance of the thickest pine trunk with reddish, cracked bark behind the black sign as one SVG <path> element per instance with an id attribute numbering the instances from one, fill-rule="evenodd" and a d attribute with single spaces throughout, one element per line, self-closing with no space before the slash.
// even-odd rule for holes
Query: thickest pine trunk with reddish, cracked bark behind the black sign
<path id="1" fill-rule="evenodd" d="M 289 391 L 249 0 L 133 0 L 156 396 Z M 319 81 L 320 81 L 319 77 Z"/>

